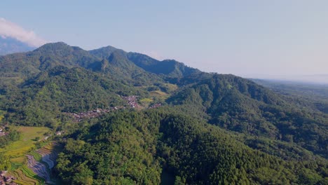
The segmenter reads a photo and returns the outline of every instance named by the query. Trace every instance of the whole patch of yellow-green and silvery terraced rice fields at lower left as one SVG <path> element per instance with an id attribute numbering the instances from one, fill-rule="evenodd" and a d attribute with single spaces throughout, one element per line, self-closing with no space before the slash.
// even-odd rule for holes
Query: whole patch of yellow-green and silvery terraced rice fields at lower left
<path id="1" fill-rule="evenodd" d="M 43 146 L 43 148 L 32 151 L 36 147 L 36 138 L 43 139 L 49 128 L 38 127 L 14 127 L 22 132 L 22 139 L 13 142 L 0 152 L 10 156 L 11 174 L 17 179 L 17 184 L 36 185 L 36 184 L 54 184 L 51 181 L 50 169 L 55 165 L 58 147 L 54 142 Z"/>

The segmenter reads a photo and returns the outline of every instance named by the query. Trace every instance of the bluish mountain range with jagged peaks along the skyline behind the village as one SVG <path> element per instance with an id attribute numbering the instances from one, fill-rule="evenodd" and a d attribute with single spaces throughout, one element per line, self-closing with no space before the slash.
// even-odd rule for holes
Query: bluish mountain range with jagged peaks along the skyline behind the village
<path id="1" fill-rule="evenodd" d="M 134 55 L 142 54 L 135 53 Z M 0 56 L 0 74 L 1 77 L 29 78 L 56 66 L 83 67 L 109 76 L 116 76 L 135 85 L 142 85 L 161 81 L 156 73 L 153 73 L 153 69 L 160 69 L 166 64 L 169 64 L 171 68 L 163 74 L 182 77 L 199 72 L 176 61 L 156 62 L 156 64 L 163 63 L 164 66 L 155 65 L 149 69 L 137 65 L 143 60 L 130 60 L 129 56 L 129 53 L 111 46 L 86 51 L 62 42 L 47 43 L 31 52 Z"/>

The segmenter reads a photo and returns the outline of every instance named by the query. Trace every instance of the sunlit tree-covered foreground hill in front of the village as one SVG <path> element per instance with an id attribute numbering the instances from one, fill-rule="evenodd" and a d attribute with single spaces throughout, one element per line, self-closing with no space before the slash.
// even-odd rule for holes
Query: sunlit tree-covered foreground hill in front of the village
<path id="1" fill-rule="evenodd" d="M 71 137 L 56 167 L 69 184 L 159 184 L 163 172 L 176 184 L 327 182 L 324 160 L 284 161 L 177 112 L 123 111 Z"/>

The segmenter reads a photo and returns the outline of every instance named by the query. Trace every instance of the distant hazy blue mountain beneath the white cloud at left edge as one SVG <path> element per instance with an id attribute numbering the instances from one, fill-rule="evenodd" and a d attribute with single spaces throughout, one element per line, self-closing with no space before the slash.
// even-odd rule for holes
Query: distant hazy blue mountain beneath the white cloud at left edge
<path id="1" fill-rule="evenodd" d="M 11 37 L 0 36 L 0 55 L 27 52 L 35 48 Z"/>

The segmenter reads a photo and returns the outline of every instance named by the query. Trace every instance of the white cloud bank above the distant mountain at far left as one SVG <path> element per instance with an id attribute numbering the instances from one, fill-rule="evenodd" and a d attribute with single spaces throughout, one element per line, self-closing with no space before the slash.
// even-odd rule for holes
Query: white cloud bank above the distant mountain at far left
<path id="1" fill-rule="evenodd" d="M 4 18 L 0 18 L 0 36 L 12 37 L 34 47 L 39 47 L 46 43 L 46 41 L 36 36 L 34 32 L 27 31 L 19 25 Z"/>

